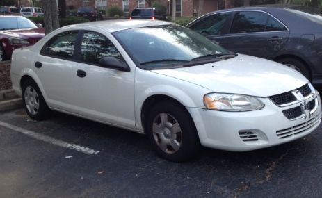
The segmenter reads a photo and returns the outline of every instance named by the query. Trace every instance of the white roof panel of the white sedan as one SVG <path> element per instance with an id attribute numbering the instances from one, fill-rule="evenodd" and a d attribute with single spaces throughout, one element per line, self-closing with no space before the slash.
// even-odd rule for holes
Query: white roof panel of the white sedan
<path id="1" fill-rule="evenodd" d="M 141 28 L 146 26 L 162 26 L 173 24 L 170 22 L 164 22 L 159 20 L 130 20 L 130 19 L 115 19 L 115 20 L 106 20 L 106 21 L 97 21 L 97 22 L 88 22 L 84 24 L 76 24 L 73 26 L 92 26 L 97 28 L 104 28 L 104 30 L 112 33 L 115 31 L 122 31 L 131 28 Z"/>

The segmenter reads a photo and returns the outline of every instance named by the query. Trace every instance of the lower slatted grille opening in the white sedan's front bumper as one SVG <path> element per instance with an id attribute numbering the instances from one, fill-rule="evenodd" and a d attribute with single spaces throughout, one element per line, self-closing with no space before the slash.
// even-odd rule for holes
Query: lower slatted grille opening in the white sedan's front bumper
<path id="1" fill-rule="evenodd" d="M 298 124 L 296 126 L 282 129 L 279 131 L 276 131 L 276 135 L 280 139 L 289 138 L 293 135 L 298 135 L 300 133 L 304 133 L 308 131 L 309 129 L 312 129 L 312 127 L 319 125 L 321 121 L 321 115 L 313 117 L 312 119 L 309 119 L 309 121 L 304 122 L 302 124 Z"/>

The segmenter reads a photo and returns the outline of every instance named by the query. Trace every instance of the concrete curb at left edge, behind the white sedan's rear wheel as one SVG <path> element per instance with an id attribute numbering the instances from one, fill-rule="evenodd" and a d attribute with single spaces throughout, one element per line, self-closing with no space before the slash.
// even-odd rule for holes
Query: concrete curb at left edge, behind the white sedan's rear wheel
<path id="1" fill-rule="evenodd" d="M 0 91 L 0 112 L 22 108 L 22 98 L 19 97 L 14 90 Z"/>

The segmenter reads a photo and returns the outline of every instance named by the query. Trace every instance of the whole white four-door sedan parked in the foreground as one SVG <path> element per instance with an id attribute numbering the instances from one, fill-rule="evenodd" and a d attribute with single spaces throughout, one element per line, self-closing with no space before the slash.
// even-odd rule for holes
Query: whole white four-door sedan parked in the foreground
<path id="1" fill-rule="evenodd" d="M 170 22 L 65 26 L 16 49 L 10 75 L 32 119 L 58 110 L 145 133 L 174 161 L 200 145 L 280 145 L 321 122 L 319 93 L 296 70 L 232 53 Z"/>

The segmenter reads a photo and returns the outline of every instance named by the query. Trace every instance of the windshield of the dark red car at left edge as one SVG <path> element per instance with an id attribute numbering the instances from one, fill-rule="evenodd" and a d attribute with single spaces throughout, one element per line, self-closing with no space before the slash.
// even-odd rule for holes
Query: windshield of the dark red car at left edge
<path id="1" fill-rule="evenodd" d="M 0 30 L 37 28 L 29 19 L 24 17 L 0 17 Z"/>

